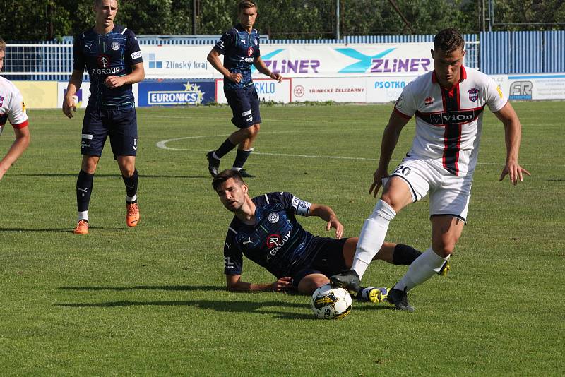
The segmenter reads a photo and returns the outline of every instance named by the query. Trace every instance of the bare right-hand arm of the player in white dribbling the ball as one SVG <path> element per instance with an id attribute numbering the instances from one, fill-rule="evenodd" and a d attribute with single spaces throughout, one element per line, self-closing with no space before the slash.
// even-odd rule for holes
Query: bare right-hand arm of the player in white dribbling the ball
<path id="1" fill-rule="evenodd" d="M 508 175 L 511 184 L 516 185 L 518 181 L 523 181 L 523 174 L 530 175 L 528 170 L 518 164 L 522 125 L 510 102 L 506 102 L 504 107 L 498 112 L 495 112 L 494 115 L 504 124 L 504 139 L 506 142 L 506 164 L 504 165 L 504 169 L 502 169 L 500 181 L 504 179 L 504 176 Z"/>

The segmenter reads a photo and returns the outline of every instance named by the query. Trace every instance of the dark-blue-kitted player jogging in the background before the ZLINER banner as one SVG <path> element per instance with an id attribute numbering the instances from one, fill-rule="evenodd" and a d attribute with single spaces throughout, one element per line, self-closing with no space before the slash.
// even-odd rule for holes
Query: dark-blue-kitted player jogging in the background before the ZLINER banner
<path id="1" fill-rule="evenodd" d="M 259 132 L 261 115 L 259 99 L 251 80 L 251 65 L 279 83 L 283 80 L 280 73 L 271 72 L 259 52 L 259 34 L 253 28 L 257 18 L 257 5 L 254 1 L 239 1 L 237 6 L 239 24 L 227 30 L 208 54 L 208 61 L 224 76 L 224 93 L 230 104 L 232 123 L 239 128 L 228 137 L 220 148 L 211 150 L 206 155 L 208 171 L 212 176 L 218 174 L 220 159 L 237 145 L 237 153 L 232 169 L 239 170 L 244 177 L 252 176 L 243 167 L 253 151 L 253 143 Z M 220 61 L 224 54 L 224 63 Z"/>

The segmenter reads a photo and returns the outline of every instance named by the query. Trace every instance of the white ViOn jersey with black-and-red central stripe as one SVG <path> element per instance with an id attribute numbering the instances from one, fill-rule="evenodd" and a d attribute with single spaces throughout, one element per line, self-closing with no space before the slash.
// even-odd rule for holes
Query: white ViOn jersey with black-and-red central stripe
<path id="1" fill-rule="evenodd" d="M 403 89 L 394 110 L 407 119 L 416 116 L 416 135 L 408 155 L 419 156 L 456 176 L 472 174 L 477 164 L 482 111 L 498 112 L 506 97 L 492 78 L 461 66 L 453 88 L 442 88 L 434 71 Z"/>

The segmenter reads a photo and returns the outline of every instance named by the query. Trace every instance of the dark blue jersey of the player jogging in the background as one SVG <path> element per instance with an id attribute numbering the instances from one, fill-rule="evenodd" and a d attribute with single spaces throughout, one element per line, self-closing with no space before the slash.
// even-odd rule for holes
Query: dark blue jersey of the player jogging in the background
<path id="1" fill-rule="evenodd" d="M 251 80 L 251 66 L 256 58 L 261 56 L 259 52 L 259 33 L 256 29 L 251 33 L 244 30 L 242 25 L 235 25 L 227 30 L 214 48 L 218 54 L 224 54 L 224 66 L 231 73 L 241 73 L 242 80 L 235 83 L 232 80 L 224 80 L 225 89 L 246 88 L 253 85 Z"/>

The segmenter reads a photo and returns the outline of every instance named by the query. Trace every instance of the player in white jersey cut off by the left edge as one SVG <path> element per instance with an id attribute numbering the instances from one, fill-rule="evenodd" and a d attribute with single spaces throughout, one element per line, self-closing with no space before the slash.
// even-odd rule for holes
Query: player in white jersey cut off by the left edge
<path id="1" fill-rule="evenodd" d="M 0 37 L 0 71 L 4 66 L 4 56 L 6 56 L 6 42 Z M 0 160 L 0 180 L 30 144 L 28 115 L 25 114 L 22 95 L 10 80 L 0 77 L 0 135 L 4 131 L 6 121 L 10 121 L 16 133 L 16 140 Z"/>

